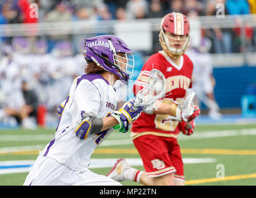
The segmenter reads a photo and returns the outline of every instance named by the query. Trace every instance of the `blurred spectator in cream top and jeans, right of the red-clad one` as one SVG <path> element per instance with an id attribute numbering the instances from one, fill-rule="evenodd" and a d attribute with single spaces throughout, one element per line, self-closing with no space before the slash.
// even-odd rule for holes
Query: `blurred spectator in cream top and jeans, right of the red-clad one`
<path id="1" fill-rule="evenodd" d="M 46 22 L 71 22 L 72 14 L 70 11 L 68 11 L 68 2 L 67 1 L 61 1 L 58 2 L 55 9 L 48 12 L 48 14 L 45 17 Z M 70 40 L 70 35 L 62 34 L 59 35 L 58 32 L 54 34 L 54 30 L 52 30 L 53 35 L 51 35 L 48 39 L 48 49 L 49 51 L 52 51 L 55 44 L 58 41 L 62 40 Z"/>

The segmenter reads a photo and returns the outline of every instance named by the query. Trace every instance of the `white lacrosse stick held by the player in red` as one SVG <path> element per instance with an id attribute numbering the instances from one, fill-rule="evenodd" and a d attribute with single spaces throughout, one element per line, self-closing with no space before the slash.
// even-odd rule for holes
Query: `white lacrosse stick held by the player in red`
<path id="1" fill-rule="evenodd" d="M 182 110 L 181 113 L 181 118 L 175 117 L 175 116 L 169 116 L 169 119 L 175 120 L 175 121 L 179 121 L 181 122 L 182 119 L 183 121 L 187 122 L 188 121 L 188 117 L 191 116 L 191 114 L 193 114 L 194 111 L 194 95 L 196 93 L 194 92 L 190 92 L 188 94 L 188 96 L 186 97 L 186 99 L 183 101 L 183 103 L 180 104 L 179 108 Z"/>

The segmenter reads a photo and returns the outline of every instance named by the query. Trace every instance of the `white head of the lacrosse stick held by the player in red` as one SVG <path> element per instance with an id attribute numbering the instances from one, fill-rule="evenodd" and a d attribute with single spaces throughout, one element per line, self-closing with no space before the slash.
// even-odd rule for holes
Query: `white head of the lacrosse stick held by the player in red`
<path id="1" fill-rule="evenodd" d="M 181 118 L 183 118 L 183 120 L 185 122 L 188 121 L 188 117 L 191 116 L 191 114 L 193 114 L 194 111 L 194 95 L 196 93 L 194 92 L 190 92 L 188 94 L 188 96 L 186 97 L 186 99 L 183 102 L 183 107 L 182 107 L 182 113 L 181 113 Z"/>

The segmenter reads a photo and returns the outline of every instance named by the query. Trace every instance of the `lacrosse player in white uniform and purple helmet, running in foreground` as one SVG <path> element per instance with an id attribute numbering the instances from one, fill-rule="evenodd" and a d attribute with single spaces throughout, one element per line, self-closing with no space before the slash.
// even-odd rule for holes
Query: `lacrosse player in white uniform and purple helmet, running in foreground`
<path id="1" fill-rule="evenodd" d="M 143 106 L 135 99 L 116 111 L 116 80 L 128 82 L 133 51 L 112 35 L 85 40 L 86 74 L 76 77 L 60 110 L 55 138 L 39 153 L 24 185 L 121 185 L 88 170 L 91 154 L 114 129 L 127 132 Z"/>

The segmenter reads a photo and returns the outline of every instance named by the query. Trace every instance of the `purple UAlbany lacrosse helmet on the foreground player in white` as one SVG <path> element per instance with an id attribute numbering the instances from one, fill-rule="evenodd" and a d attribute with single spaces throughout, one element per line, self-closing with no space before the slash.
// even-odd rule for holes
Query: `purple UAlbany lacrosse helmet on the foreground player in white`
<path id="1" fill-rule="evenodd" d="M 119 56 L 117 53 L 124 53 Z M 134 71 L 134 52 L 124 43 L 121 38 L 114 35 L 103 35 L 99 37 L 86 38 L 84 55 L 86 61 L 93 61 L 104 70 L 116 74 L 127 84 Z M 119 59 L 126 59 L 125 62 Z M 126 66 L 123 68 L 120 66 Z"/>

